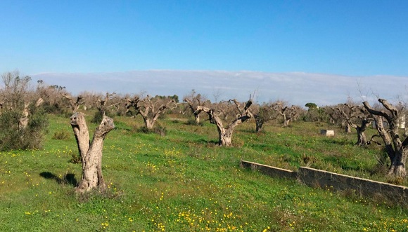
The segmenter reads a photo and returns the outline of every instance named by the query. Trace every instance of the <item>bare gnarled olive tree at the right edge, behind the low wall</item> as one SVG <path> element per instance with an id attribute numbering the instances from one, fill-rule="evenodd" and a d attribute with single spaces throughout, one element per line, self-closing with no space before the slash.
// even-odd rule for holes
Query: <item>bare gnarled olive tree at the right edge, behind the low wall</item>
<path id="1" fill-rule="evenodd" d="M 388 158 L 390 158 L 391 165 L 388 170 L 388 175 L 405 177 L 405 163 L 408 156 L 408 137 L 403 141 L 400 138 L 398 128 L 398 121 L 401 116 L 400 111 L 387 100 L 378 99 L 378 102 L 381 103 L 384 109 L 374 109 L 369 102 L 363 102 L 363 104 L 376 121 L 376 128 L 383 139 Z M 388 129 L 384 128 L 384 119 L 388 123 Z"/>

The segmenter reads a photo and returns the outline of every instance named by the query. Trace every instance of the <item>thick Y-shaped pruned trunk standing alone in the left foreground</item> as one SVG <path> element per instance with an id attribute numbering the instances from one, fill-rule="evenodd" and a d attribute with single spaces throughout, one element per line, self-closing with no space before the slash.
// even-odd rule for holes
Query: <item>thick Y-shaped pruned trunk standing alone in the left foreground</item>
<path id="1" fill-rule="evenodd" d="M 102 175 L 103 141 L 108 132 L 115 128 L 113 119 L 103 116 L 102 122 L 96 128 L 90 144 L 84 114 L 76 112 L 70 119 L 82 160 L 82 179 L 77 186 L 77 191 L 83 193 L 96 188 L 105 189 L 106 185 Z"/>

